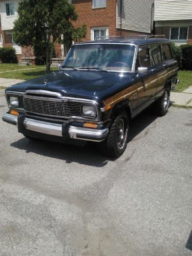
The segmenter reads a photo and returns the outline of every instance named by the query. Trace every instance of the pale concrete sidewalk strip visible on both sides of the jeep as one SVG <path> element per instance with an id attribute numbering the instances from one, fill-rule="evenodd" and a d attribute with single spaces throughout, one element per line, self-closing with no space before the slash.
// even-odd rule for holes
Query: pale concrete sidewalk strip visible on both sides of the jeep
<path id="1" fill-rule="evenodd" d="M 7 78 L 0 78 L 0 86 L 9 87 L 11 85 L 24 82 L 25 80 L 19 79 L 7 79 Z M 171 102 L 174 105 L 192 106 L 192 86 L 186 89 L 183 92 L 171 92 Z"/>

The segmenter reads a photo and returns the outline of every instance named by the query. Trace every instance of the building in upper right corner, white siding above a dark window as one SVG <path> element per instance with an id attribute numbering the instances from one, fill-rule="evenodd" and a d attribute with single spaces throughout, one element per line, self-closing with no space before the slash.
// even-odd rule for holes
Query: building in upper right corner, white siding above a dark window
<path id="1" fill-rule="evenodd" d="M 192 0 L 155 0 L 156 34 L 177 45 L 192 44 Z"/>

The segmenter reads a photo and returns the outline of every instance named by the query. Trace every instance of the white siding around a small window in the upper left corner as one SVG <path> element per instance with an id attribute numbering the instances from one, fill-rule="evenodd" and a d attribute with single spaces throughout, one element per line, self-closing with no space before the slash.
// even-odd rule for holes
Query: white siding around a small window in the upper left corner
<path id="1" fill-rule="evenodd" d="M 14 3 L 14 15 L 13 16 L 6 16 L 6 3 Z M 1 12 L 1 24 L 2 30 L 10 30 L 13 29 L 14 25 L 13 22 L 18 18 L 18 0 L 10 0 L 10 1 L 1 1 L 0 2 L 0 12 Z"/>

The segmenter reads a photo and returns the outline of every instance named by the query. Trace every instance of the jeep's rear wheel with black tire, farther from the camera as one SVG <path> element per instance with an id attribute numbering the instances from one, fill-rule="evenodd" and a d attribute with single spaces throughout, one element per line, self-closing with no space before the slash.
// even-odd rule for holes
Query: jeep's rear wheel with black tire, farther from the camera
<path id="1" fill-rule="evenodd" d="M 158 116 L 164 116 L 166 115 L 168 108 L 170 104 L 170 88 L 167 87 L 162 95 L 161 98 L 159 98 L 153 107 L 153 113 Z"/>

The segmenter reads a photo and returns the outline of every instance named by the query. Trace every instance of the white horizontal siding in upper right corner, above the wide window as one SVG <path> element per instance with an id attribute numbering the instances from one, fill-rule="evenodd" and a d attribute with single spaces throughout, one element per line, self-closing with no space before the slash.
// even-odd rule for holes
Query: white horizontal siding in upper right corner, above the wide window
<path id="1" fill-rule="evenodd" d="M 155 0 L 155 21 L 192 19 L 192 0 Z"/>

